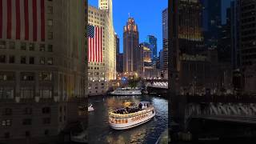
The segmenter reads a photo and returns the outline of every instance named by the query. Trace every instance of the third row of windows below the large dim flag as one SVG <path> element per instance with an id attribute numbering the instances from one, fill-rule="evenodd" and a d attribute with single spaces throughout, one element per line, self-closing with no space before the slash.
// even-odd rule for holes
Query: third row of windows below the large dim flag
<path id="1" fill-rule="evenodd" d="M 21 72 L 22 81 L 34 81 L 35 74 L 33 72 Z M 53 73 L 52 72 L 39 72 L 38 74 L 39 81 L 52 81 Z M 14 72 L 0 72 L 0 81 L 14 81 L 15 73 Z"/>

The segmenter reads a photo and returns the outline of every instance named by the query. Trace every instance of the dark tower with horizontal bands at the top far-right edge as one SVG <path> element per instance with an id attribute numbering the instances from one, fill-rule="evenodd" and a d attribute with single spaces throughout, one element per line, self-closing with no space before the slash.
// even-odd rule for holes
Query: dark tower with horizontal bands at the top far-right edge
<path id="1" fill-rule="evenodd" d="M 256 64 L 255 0 L 240 0 L 240 54 L 242 67 Z"/>

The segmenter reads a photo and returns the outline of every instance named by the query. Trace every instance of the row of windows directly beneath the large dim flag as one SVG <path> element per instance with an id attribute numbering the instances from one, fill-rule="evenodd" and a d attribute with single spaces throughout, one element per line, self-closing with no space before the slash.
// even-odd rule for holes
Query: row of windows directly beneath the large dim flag
<path id="1" fill-rule="evenodd" d="M 39 51 L 47 51 L 47 52 L 53 52 L 53 45 L 46 45 L 46 44 L 36 44 L 33 42 L 14 42 L 14 41 L 0 41 L 0 49 L 10 49 L 14 50 L 16 47 L 20 47 L 20 50 L 30 50 L 34 51 L 36 47 L 38 47 Z"/>

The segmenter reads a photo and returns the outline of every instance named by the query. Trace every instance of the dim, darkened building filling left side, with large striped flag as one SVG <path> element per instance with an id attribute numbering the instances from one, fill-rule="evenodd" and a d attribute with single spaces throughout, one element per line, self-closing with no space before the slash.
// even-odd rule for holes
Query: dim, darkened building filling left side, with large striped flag
<path id="1" fill-rule="evenodd" d="M 80 0 L 0 1 L 0 143 L 57 143 L 79 120 L 85 10 Z"/>

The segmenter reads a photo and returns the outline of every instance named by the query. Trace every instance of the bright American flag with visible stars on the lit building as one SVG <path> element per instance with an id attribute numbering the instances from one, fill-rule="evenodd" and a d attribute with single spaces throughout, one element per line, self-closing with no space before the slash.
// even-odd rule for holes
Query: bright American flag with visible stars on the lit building
<path id="1" fill-rule="evenodd" d="M 102 62 L 102 27 L 88 25 L 89 62 Z"/>

